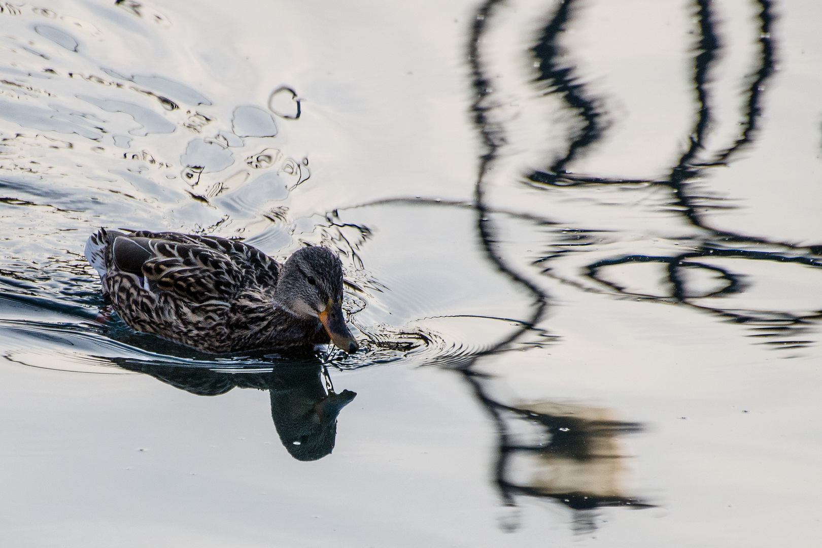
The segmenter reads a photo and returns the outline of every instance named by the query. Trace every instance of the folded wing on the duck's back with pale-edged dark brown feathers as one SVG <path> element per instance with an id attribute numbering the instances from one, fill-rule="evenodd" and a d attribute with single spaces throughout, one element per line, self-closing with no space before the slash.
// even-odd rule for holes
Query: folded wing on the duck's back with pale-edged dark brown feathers
<path id="1" fill-rule="evenodd" d="M 136 274 L 144 289 L 188 302 L 229 302 L 245 282 L 232 257 L 190 239 L 132 233 L 114 237 L 110 249 L 109 275 Z"/>

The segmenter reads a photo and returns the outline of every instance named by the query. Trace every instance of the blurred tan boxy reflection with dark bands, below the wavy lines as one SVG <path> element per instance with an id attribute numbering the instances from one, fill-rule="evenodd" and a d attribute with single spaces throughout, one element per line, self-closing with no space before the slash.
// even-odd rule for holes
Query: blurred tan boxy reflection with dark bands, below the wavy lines
<path id="1" fill-rule="evenodd" d="M 622 438 L 640 432 L 616 410 L 581 403 L 501 403 L 489 397 L 495 380 L 463 371 L 483 406 L 494 417 L 497 434 L 496 486 L 512 513 L 503 529 L 520 527 L 517 496 L 556 500 L 573 511 L 576 532 L 596 528 L 603 506 L 653 506 L 631 492 L 631 472 Z"/>

